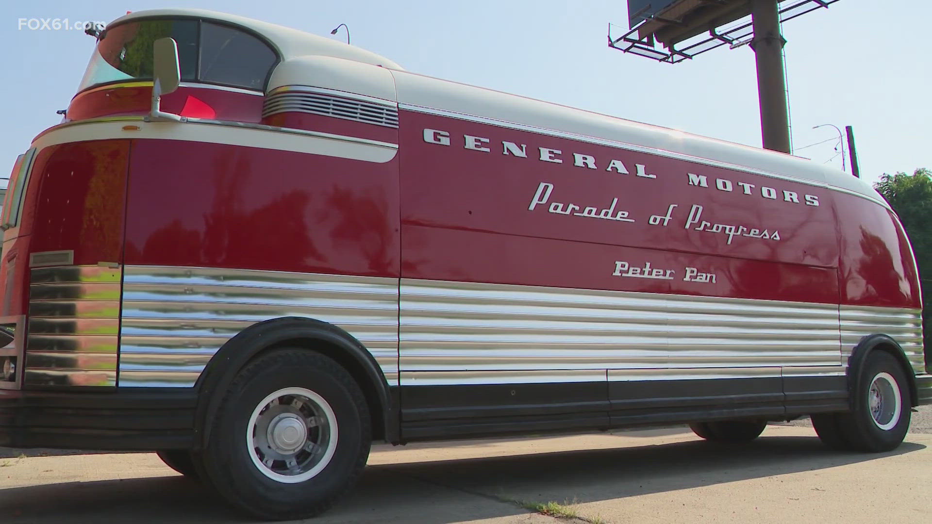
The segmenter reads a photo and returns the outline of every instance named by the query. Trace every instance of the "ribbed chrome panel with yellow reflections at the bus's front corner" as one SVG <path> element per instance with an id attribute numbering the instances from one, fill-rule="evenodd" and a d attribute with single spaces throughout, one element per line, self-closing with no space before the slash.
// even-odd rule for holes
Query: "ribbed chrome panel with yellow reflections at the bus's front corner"
<path id="1" fill-rule="evenodd" d="M 30 270 L 26 385 L 116 386 L 120 269 Z"/>

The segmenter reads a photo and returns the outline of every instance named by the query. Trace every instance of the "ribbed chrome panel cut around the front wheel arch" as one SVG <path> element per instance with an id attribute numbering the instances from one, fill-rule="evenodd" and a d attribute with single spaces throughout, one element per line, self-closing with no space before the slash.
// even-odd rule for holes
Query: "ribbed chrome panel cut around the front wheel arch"
<path id="1" fill-rule="evenodd" d="M 127 266 L 120 386 L 190 387 L 213 353 L 257 322 L 303 316 L 336 324 L 398 377 L 398 281 L 251 269 Z"/>

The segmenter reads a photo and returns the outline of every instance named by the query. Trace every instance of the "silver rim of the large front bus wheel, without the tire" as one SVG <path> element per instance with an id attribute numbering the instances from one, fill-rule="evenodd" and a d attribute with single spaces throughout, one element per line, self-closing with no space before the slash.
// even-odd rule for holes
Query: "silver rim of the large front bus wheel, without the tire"
<path id="1" fill-rule="evenodd" d="M 283 388 L 260 402 L 246 426 L 246 447 L 260 473 L 287 484 L 321 473 L 334 457 L 336 415 L 323 397 Z"/>

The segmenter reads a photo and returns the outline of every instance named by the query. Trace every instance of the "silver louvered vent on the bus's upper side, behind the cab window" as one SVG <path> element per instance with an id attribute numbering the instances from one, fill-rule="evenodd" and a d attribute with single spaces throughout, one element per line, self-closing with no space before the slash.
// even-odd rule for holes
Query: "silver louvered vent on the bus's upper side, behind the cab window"
<path id="1" fill-rule="evenodd" d="M 267 96 L 262 117 L 280 113 L 308 113 L 398 128 L 398 107 L 395 103 L 371 97 L 354 97 L 351 93 L 336 94 L 311 88 L 280 90 Z"/>

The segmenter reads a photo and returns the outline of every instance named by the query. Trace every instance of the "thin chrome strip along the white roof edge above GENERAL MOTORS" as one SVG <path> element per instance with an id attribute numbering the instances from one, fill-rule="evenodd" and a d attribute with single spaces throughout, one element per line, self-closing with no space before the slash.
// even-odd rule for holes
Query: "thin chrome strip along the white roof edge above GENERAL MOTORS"
<path id="1" fill-rule="evenodd" d="M 640 153 L 648 153 L 648 154 L 651 154 L 651 155 L 659 155 L 659 156 L 661 156 L 661 157 L 666 157 L 666 158 L 668 158 L 668 159 L 680 159 L 680 160 L 686 160 L 686 161 L 689 161 L 689 162 L 695 162 L 695 163 L 699 163 L 699 164 L 705 164 L 705 165 L 707 165 L 707 166 L 720 167 L 720 168 L 729 169 L 729 170 L 736 170 L 736 171 L 740 171 L 740 172 L 752 172 L 752 173 L 754 173 L 754 174 L 760 174 L 761 176 L 767 176 L 767 177 L 776 178 L 776 179 L 779 179 L 779 180 L 787 180 L 787 181 L 789 181 L 789 182 L 796 182 L 796 183 L 799 183 L 799 184 L 805 184 L 806 186 L 824 187 L 824 188 L 831 189 L 831 190 L 834 190 L 834 191 L 839 191 L 839 192 L 842 192 L 842 193 L 847 193 L 847 194 L 849 194 L 849 195 L 854 195 L 854 196 L 856 196 L 856 197 L 860 197 L 860 198 L 865 199 L 865 200 L 870 200 L 871 202 L 880 204 L 880 205 L 884 206 L 884 207 L 887 208 L 887 209 L 891 209 L 891 208 L 890 208 L 890 205 L 889 205 L 885 200 L 878 200 L 878 199 L 875 199 L 875 198 L 871 197 L 870 195 L 867 195 L 867 194 L 864 194 L 864 193 L 858 193 L 857 191 L 852 191 L 852 190 L 850 190 L 850 189 L 845 189 L 845 188 L 843 188 L 843 187 L 832 186 L 832 185 L 830 185 L 830 184 L 821 183 L 821 182 L 818 182 L 818 181 L 816 181 L 816 180 L 810 180 L 810 179 L 806 179 L 806 178 L 798 178 L 798 177 L 795 177 L 795 176 L 791 176 L 791 175 L 783 174 L 783 173 L 779 173 L 779 172 L 769 172 L 769 171 L 764 171 L 764 170 L 761 170 L 761 169 L 756 169 L 756 168 L 752 168 L 752 167 L 748 167 L 748 166 L 733 164 L 733 163 L 730 163 L 730 162 L 723 162 L 723 161 L 720 161 L 720 160 L 712 160 L 712 159 L 704 159 L 704 158 L 701 158 L 701 157 L 693 157 L 692 155 L 686 155 L 686 154 L 677 153 L 677 152 L 674 152 L 674 151 L 667 151 L 667 150 L 665 150 L 665 149 L 658 149 L 658 148 L 654 148 L 654 147 L 645 147 L 645 146 L 643 146 L 643 145 L 629 144 L 629 143 L 624 143 L 624 142 L 616 142 L 616 141 L 608 140 L 608 139 L 605 139 L 605 138 L 598 138 L 598 137 L 595 137 L 595 136 L 588 136 L 588 135 L 584 135 L 584 134 L 577 134 L 577 133 L 568 132 L 568 131 L 559 131 L 559 130 L 550 129 L 550 128 L 541 128 L 541 127 L 537 127 L 537 126 L 529 126 L 529 125 L 527 125 L 527 124 L 521 124 L 521 123 L 518 123 L 518 122 L 512 122 L 512 121 L 508 121 L 508 120 L 499 120 L 499 119 L 490 118 L 490 117 L 479 117 L 479 116 L 470 115 L 470 114 L 467 114 L 467 113 L 458 113 L 458 112 L 456 112 L 456 111 L 447 111 L 447 110 L 445 110 L 445 109 L 437 109 L 437 108 L 434 108 L 434 107 L 427 107 L 427 106 L 424 106 L 424 105 L 417 105 L 417 104 L 414 104 L 414 103 L 398 103 L 398 108 L 399 108 L 399 109 L 404 109 L 404 110 L 406 110 L 406 111 L 415 111 L 415 112 L 417 112 L 417 113 L 423 113 L 423 114 L 426 114 L 426 115 L 435 115 L 435 116 L 437 116 L 437 117 L 458 118 L 458 119 L 460 119 L 460 120 L 468 120 L 468 121 L 471 121 L 471 122 L 477 122 L 477 123 L 481 123 L 481 124 L 488 124 L 488 125 L 492 125 L 492 126 L 498 126 L 498 127 L 502 127 L 502 128 L 513 129 L 513 130 L 517 130 L 517 131 L 530 131 L 530 132 L 535 132 L 535 133 L 538 133 L 538 134 L 545 134 L 545 135 L 548 135 L 548 136 L 555 136 L 555 137 L 558 137 L 558 138 L 568 138 L 568 139 L 570 139 L 570 140 L 577 140 L 577 141 L 585 142 L 585 143 L 588 143 L 588 144 L 608 145 L 608 146 L 610 146 L 610 147 L 618 147 L 618 148 L 621 148 L 621 149 L 626 149 L 626 150 L 628 150 L 628 151 L 637 151 L 637 152 L 640 152 Z"/>

